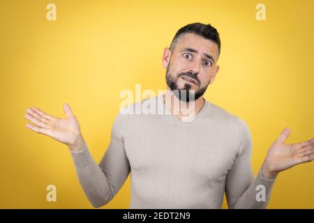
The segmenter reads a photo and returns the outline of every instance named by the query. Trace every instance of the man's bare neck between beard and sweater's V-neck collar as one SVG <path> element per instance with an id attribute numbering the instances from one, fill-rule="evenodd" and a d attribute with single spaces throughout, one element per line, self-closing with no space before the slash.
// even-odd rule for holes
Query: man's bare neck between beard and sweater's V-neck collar
<path id="1" fill-rule="evenodd" d="M 181 101 L 172 93 L 168 86 L 165 94 L 163 95 L 163 100 L 167 109 L 169 109 L 170 112 L 174 116 L 177 116 L 180 120 L 184 120 L 185 118 L 189 120 L 193 118 L 198 112 L 200 112 L 205 103 L 202 96 L 191 102 Z"/>

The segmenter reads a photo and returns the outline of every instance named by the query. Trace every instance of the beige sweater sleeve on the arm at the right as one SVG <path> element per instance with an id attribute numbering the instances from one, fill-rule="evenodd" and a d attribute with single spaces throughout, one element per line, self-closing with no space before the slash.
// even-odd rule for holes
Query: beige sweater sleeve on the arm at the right
<path id="1" fill-rule="evenodd" d="M 229 208 L 267 208 L 276 179 L 262 176 L 261 169 L 254 178 L 251 169 L 252 139 L 248 126 L 238 118 L 239 153 L 227 174 L 225 194 Z"/>

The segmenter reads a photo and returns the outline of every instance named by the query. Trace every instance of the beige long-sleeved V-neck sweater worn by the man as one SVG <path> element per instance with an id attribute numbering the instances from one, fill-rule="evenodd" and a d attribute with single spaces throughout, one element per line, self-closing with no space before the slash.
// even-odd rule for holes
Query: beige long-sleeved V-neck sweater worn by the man
<path id="1" fill-rule="evenodd" d="M 224 192 L 229 208 L 267 207 L 275 180 L 260 171 L 254 178 L 244 121 L 207 100 L 190 122 L 173 116 L 162 95 L 146 102 L 165 114 L 119 113 L 99 164 L 87 144 L 71 153 L 94 207 L 110 202 L 129 173 L 130 208 L 221 208 Z"/>

